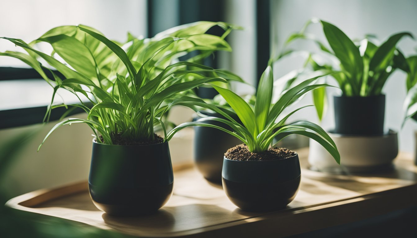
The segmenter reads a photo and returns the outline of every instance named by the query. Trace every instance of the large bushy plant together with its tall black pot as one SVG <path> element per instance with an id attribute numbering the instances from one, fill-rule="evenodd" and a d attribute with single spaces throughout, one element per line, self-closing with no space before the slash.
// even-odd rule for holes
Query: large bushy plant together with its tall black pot
<path id="1" fill-rule="evenodd" d="M 224 36 L 206 34 L 215 25 L 224 28 Z M 174 132 L 168 138 L 161 119 L 168 110 L 166 102 L 205 83 L 239 79 L 228 71 L 195 63 L 215 50 L 230 51 L 224 37 L 234 28 L 226 23 L 198 22 L 150 39 L 129 35 L 128 42 L 122 45 L 84 25 L 62 26 L 29 44 L 4 38 L 28 54 L 7 51 L 1 55 L 22 60 L 53 86 L 46 120 L 53 108 L 67 106 L 53 104 L 58 88 L 88 99 L 88 103 L 80 98 L 80 103 L 72 105 L 83 108 L 87 119 L 59 122 L 42 144 L 63 125 L 86 123 L 95 135 L 88 179 L 93 203 L 111 215 L 139 215 L 158 210 L 172 194 L 168 140 Z M 50 43 L 52 55 L 35 50 L 33 46 L 38 42 Z M 180 56 L 195 50 L 200 53 L 178 61 Z M 37 58 L 54 67 L 65 79 L 53 71 L 54 78 L 48 78 Z M 154 133 L 156 125 L 162 127 L 164 138 Z"/>

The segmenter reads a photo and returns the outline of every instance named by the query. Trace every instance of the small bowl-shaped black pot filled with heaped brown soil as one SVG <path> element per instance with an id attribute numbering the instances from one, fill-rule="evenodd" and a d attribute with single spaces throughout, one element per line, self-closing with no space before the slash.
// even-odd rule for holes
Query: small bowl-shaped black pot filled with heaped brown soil
<path id="1" fill-rule="evenodd" d="M 273 211 L 294 200 L 301 179 L 298 155 L 279 160 L 229 160 L 224 157 L 223 189 L 246 211 Z"/>

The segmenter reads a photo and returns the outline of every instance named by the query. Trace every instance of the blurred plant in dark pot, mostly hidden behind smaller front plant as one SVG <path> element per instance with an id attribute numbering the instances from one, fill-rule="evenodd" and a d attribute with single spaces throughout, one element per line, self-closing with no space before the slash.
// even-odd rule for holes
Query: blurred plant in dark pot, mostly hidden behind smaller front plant
<path id="1" fill-rule="evenodd" d="M 289 52 L 285 55 L 289 55 Z M 278 60 L 281 60 L 285 55 L 281 55 L 274 60 L 271 60 L 271 63 L 275 63 Z M 273 99 L 272 101 L 275 102 L 278 100 L 279 95 L 282 92 L 288 90 L 292 86 L 295 85 L 297 78 L 300 76 L 301 78 L 308 78 L 311 75 L 311 78 L 314 75 L 319 75 L 314 72 L 312 74 L 304 74 L 304 70 L 293 70 L 290 73 L 284 75 L 283 77 L 274 81 L 274 88 L 273 92 Z M 229 87 L 228 87 L 229 88 Z M 320 88 L 318 88 L 320 89 Z M 314 92 L 314 91 L 313 91 Z M 244 95 L 244 100 L 249 103 L 249 105 L 254 106 L 256 96 L 254 94 Z M 218 108 L 223 110 L 225 113 L 228 113 L 234 120 L 240 122 L 239 117 L 233 113 L 233 109 L 230 107 L 229 103 L 222 97 L 221 94 L 216 95 L 213 99 L 204 99 L 206 103 L 216 105 Z M 196 108 L 197 111 L 196 117 L 193 118 L 194 121 L 199 120 L 201 118 L 205 118 L 207 116 L 216 117 L 216 118 L 223 118 L 226 119 L 219 113 L 216 113 L 213 110 L 201 109 Z M 221 123 L 216 120 L 204 120 L 204 123 L 210 123 L 213 125 L 220 126 L 226 130 L 233 130 L 229 125 Z M 221 170 L 223 168 L 223 155 L 229 148 L 232 148 L 236 145 L 239 145 L 241 141 L 224 132 L 221 130 L 217 130 L 215 128 L 210 127 L 194 127 L 194 143 L 193 143 L 193 153 L 194 153 L 194 163 L 196 164 L 196 168 L 200 171 L 206 180 L 211 183 L 221 184 Z M 304 147 L 308 146 L 308 138 L 304 140 L 305 137 L 289 135 L 289 137 L 284 138 L 283 140 L 274 140 L 274 144 L 278 143 L 279 147 L 286 147 L 289 149 L 300 148 L 299 144 L 303 144 Z M 301 146 L 303 147 L 303 146 Z"/>

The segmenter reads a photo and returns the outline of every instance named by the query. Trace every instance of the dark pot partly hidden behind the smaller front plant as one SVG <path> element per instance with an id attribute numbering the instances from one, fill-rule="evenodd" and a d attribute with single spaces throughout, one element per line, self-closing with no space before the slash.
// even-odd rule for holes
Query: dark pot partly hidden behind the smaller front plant
<path id="1" fill-rule="evenodd" d="M 223 118 L 220 114 L 202 112 L 208 116 Z M 201 117 L 194 118 L 198 120 Z M 230 127 L 224 123 L 207 120 L 205 123 L 221 126 L 228 130 Z M 194 127 L 194 161 L 197 169 L 212 183 L 221 184 L 221 169 L 223 167 L 223 157 L 226 150 L 242 142 L 228 133 L 216 128 L 195 126 Z"/>

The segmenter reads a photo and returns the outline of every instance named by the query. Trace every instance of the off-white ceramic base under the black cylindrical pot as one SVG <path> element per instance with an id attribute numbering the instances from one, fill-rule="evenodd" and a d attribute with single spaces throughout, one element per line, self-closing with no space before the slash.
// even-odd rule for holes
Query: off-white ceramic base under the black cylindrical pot
<path id="1" fill-rule="evenodd" d="M 392 168 L 398 154 L 397 133 L 380 136 L 347 136 L 328 133 L 340 153 L 340 165 L 314 140 L 310 140 L 311 169 L 324 172 L 374 172 Z"/>

